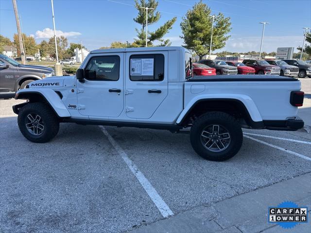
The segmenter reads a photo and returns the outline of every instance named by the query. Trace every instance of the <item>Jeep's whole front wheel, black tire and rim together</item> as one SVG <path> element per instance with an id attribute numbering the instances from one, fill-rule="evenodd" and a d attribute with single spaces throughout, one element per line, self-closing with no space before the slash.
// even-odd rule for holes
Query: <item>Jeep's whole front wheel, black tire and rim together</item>
<path id="1" fill-rule="evenodd" d="M 59 130 L 59 120 L 46 104 L 35 102 L 22 107 L 17 117 L 20 132 L 29 141 L 50 141 Z"/>

